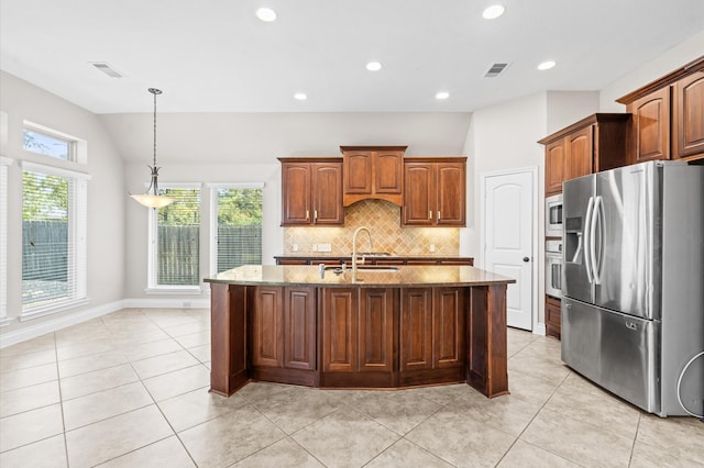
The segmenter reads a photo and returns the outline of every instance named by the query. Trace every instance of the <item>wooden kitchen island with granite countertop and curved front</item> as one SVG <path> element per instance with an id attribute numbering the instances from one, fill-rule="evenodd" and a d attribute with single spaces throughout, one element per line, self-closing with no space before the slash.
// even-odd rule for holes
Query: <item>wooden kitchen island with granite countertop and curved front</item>
<path id="1" fill-rule="evenodd" d="M 506 287 L 470 266 L 243 266 L 211 290 L 210 390 L 466 382 L 508 393 Z"/>

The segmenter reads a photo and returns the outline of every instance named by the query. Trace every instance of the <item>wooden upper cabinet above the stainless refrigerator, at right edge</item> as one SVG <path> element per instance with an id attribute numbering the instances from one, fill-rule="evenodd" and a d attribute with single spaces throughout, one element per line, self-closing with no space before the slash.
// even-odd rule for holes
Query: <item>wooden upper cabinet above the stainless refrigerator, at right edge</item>
<path id="1" fill-rule="evenodd" d="M 617 102 L 634 114 L 630 164 L 704 158 L 704 56 Z"/>

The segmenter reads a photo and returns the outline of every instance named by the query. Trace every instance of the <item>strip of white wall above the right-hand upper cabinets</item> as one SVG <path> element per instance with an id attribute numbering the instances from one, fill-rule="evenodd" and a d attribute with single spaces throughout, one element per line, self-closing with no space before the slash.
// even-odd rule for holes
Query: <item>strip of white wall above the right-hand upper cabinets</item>
<path id="1" fill-rule="evenodd" d="M 704 31 L 672 47 L 664 54 L 642 64 L 601 90 L 601 112 L 625 112 L 616 99 L 648 85 L 704 55 Z"/>

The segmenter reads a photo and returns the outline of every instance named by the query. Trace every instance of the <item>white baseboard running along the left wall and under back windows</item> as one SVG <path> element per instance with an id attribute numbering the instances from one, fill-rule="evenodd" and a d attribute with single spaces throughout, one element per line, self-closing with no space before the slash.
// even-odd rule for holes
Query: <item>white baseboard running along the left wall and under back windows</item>
<path id="1" fill-rule="evenodd" d="M 11 330 L 0 333 L 0 349 L 12 346 L 14 344 L 36 338 L 46 333 L 56 332 L 67 326 L 77 325 L 90 319 L 107 315 L 122 309 L 208 309 L 210 308 L 210 299 L 122 299 L 120 301 L 109 302 L 96 308 L 82 310 L 62 315 L 59 317 L 47 320 L 37 324 L 26 323 L 19 330 Z"/>

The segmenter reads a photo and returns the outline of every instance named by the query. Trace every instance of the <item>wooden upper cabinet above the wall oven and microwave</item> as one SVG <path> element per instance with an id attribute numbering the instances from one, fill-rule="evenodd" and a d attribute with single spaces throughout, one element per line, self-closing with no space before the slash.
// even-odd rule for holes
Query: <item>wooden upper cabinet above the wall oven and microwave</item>
<path id="1" fill-rule="evenodd" d="M 627 164 L 630 114 L 597 113 L 546 136 L 546 196 L 562 192 L 562 182 Z"/>

